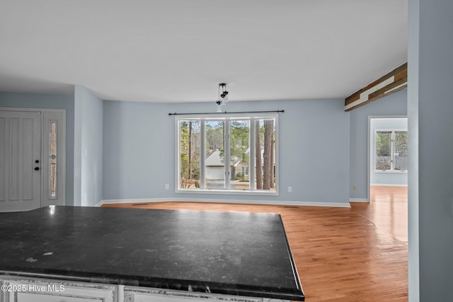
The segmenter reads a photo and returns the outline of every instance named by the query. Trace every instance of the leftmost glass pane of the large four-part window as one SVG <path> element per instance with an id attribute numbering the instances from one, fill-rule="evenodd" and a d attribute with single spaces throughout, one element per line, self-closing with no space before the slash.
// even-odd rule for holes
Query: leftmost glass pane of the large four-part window
<path id="1" fill-rule="evenodd" d="M 200 187 L 200 121 L 180 120 L 180 188 Z"/>

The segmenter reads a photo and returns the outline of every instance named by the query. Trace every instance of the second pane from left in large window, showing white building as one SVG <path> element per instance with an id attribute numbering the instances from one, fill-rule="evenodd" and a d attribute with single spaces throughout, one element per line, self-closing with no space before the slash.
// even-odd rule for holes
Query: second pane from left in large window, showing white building
<path id="1" fill-rule="evenodd" d="M 205 147 L 205 187 L 224 189 L 224 121 L 207 120 L 205 122 Z"/>

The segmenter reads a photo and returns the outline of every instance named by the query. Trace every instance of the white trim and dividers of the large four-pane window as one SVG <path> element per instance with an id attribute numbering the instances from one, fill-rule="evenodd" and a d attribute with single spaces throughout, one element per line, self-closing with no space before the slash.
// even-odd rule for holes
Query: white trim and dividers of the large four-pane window
<path id="1" fill-rule="evenodd" d="M 197 189 L 185 189 L 180 187 L 180 128 L 179 128 L 179 121 L 180 120 L 200 120 L 200 137 L 204 138 L 205 137 L 205 121 L 206 120 L 234 120 L 234 119 L 241 119 L 241 118 L 248 118 L 250 120 L 250 123 L 254 122 L 256 119 L 265 119 L 272 117 L 275 119 L 275 144 L 274 144 L 274 157 L 275 157 L 275 190 L 268 191 L 268 190 L 256 190 L 256 189 L 249 189 L 249 190 L 231 190 L 231 189 L 206 189 L 206 188 L 197 188 Z M 277 113 L 261 113 L 261 114 L 247 114 L 247 113 L 225 113 L 224 115 L 184 115 L 184 116 L 175 116 L 175 160 L 176 160 L 176 169 L 175 169 L 175 192 L 176 193 L 189 193 L 189 194 L 237 194 L 237 195 L 265 195 L 265 196 L 279 196 L 279 181 L 280 181 L 280 174 L 279 174 L 279 166 L 280 166 L 280 161 L 279 161 L 279 151 L 278 151 L 278 146 L 279 146 L 279 122 L 278 122 L 278 114 Z M 229 127 L 226 127 L 229 129 Z M 228 131 L 225 131 L 226 135 L 229 133 Z M 250 127 L 250 134 L 249 134 L 249 139 L 255 134 L 254 127 Z M 254 140 L 253 140 L 254 141 Z M 225 149 L 226 146 L 229 146 L 229 142 L 225 144 Z M 251 158 L 250 158 L 250 168 L 249 168 L 249 178 L 250 179 L 255 179 L 255 144 L 251 144 L 251 141 L 249 143 L 250 147 L 250 153 L 251 153 Z M 205 139 L 200 139 L 200 148 L 202 149 L 200 153 L 204 153 L 205 149 Z M 205 167 L 205 158 L 204 156 L 201 156 L 200 158 L 200 167 Z M 226 168 L 226 170 L 230 171 L 230 167 Z M 200 173 L 200 182 L 203 182 L 205 180 L 205 173 Z M 251 182 L 251 187 L 252 184 L 255 182 Z"/>

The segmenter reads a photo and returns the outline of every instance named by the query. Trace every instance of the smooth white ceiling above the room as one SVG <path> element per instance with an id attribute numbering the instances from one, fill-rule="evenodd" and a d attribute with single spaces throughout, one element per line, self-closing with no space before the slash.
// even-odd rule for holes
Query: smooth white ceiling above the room
<path id="1" fill-rule="evenodd" d="M 407 0 L 0 0 L 0 91 L 345 98 L 407 61 Z"/>

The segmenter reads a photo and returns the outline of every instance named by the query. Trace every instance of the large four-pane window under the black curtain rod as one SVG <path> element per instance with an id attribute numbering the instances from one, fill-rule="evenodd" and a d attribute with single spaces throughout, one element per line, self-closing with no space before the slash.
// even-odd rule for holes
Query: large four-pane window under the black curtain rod
<path id="1" fill-rule="evenodd" d="M 179 192 L 277 194 L 277 115 L 177 117 Z"/>

